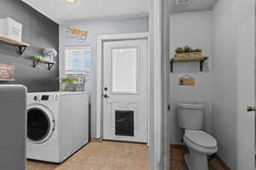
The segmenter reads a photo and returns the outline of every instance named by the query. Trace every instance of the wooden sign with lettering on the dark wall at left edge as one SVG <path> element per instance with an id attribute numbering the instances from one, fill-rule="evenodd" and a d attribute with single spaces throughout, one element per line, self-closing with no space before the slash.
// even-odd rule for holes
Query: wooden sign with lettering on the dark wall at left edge
<path id="1" fill-rule="evenodd" d="M 15 81 L 15 66 L 0 64 L 0 81 Z"/>

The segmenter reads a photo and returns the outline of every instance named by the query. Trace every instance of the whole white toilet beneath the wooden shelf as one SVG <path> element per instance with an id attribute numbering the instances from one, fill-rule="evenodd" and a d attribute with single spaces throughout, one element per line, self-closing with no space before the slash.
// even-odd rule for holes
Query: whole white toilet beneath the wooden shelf
<path id="1" fill-rule="evenodd" d="M 178 126 L 183 128 L 184 143 L 189 149 L 185 161 L 189 170 L 208 170 L 207 156 L 217 152 L 217 141 L 202 131 L 205 105 L 177 104 Z"/>

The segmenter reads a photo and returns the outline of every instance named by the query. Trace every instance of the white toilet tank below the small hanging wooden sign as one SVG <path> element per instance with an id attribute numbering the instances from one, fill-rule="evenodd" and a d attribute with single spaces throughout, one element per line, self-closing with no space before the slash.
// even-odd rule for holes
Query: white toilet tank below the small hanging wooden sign
<path id="1" fill-rule="evenodd" d="M 205 105 L 177 104 L 178 126 L 183 129 L 201 130 L 204 122 Z"/>

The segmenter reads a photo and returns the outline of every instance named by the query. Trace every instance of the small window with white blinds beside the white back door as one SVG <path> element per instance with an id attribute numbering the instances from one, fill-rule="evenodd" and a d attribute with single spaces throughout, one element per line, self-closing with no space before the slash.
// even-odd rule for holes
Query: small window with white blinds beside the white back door
<path id="1" fill-rule="evenodd" d="M 65 71 L 66 72 L 90 72 L 91 71 L 91 48 L 68 47 L 65 48 Z"/>

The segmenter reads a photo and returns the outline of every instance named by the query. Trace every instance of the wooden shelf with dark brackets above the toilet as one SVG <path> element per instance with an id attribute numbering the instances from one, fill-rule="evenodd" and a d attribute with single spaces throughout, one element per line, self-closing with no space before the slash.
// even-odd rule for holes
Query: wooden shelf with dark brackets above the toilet
<path id="1" fill-rule="evenodd" d="M 173 72 L 173 63 L 174 62 L 191 62 L 191 61 L 199 61 L 200 62 L 200 71 L 203 71 L 203 64 L 207 59 L 209 59 L 209 57 L 172 58 L 171 59 L 171 72 Z"/>

